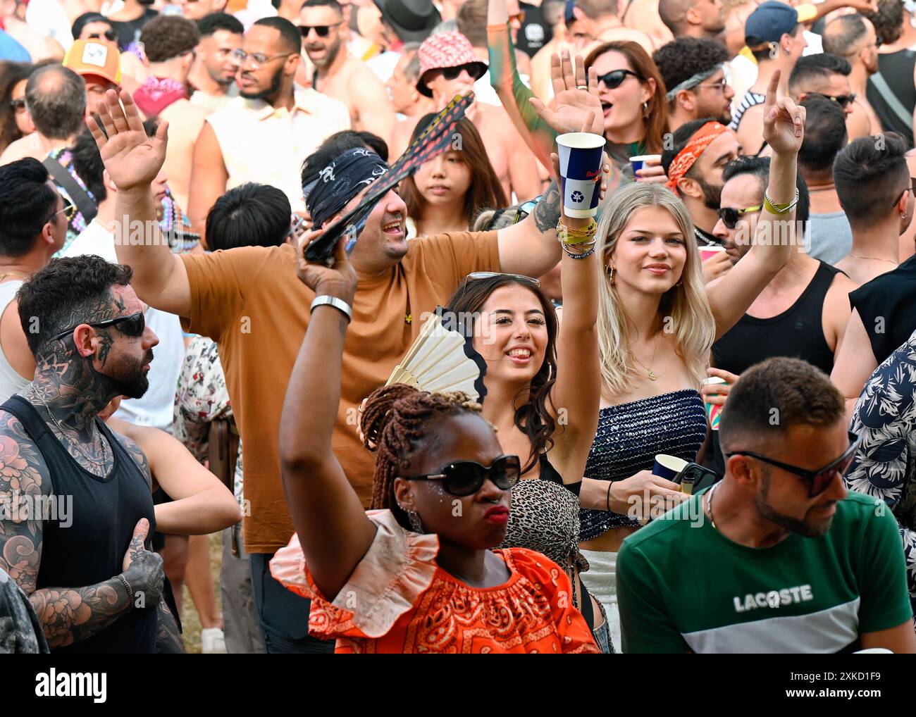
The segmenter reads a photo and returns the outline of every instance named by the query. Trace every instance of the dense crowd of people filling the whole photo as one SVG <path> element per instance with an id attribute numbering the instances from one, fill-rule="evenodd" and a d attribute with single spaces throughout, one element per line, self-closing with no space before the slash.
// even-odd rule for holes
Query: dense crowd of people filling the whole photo
<path id="1" fill-rule="evenodd" d="M 911 0 L 3 13 L 0 652 L 916 652 Z"/>

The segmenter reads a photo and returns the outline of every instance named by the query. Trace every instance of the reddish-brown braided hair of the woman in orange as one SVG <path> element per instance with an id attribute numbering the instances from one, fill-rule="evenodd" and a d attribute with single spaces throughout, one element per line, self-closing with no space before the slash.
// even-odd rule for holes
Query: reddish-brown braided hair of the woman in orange
<path id="1" fill-rule="evenodd" d="M 365 399 L 360 430 L 369 451 L 376 451 L 372 507 L 387 508 L 403 527 L 407 515 L 394 499 L 394 482 L 409 470 L 409 455 L 426 438 L 431 421 L 463 413 L 479 415 L 482 407 L 461 391 L 429 393 L 405 384 L 376 388 Z"/>

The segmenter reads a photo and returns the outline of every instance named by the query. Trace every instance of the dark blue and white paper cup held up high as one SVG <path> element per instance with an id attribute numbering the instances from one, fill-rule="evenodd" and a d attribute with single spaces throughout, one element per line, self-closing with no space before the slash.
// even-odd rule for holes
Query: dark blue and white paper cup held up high
<path id="1" fill-rule="evenodd" d="M 604 149 L 605 138 L 590 132 L 569 132 L 557 137 L 566 216 L 587 219 L 598 213 Z"/>

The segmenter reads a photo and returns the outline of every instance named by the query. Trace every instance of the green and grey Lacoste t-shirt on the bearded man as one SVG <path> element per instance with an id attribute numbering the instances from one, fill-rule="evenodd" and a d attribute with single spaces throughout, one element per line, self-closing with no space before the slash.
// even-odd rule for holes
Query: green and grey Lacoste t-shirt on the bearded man
<path id="1" fill-rule="evenodd" d="M 755 549 L 712 527 L 703 493 L 624 540 L 624 652 L 839 652 L 912 617 L 900 531 L 883 501 L 850 492 L 823 538 Z"/>

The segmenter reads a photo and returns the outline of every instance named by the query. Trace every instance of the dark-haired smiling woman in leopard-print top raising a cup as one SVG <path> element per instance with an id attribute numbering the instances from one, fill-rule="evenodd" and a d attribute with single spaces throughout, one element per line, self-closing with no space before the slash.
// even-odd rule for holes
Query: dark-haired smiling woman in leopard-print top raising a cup
<path id="1" fill-rule="evenodd" d="M 556 155 L 553 162 L 559 182 Z M 496 426 L 503 450 L 521 457 L 503 545 L 537 550 L 561 565 L 573 583 L 573 604 L 610 652 L 601 604 L 579 581 L 588 563 L 578 549 L 578 494 L 601 393 L 596 229 L 593 219 L 565 213 L 557 228 L 566 241 L 559 326 L 540 281 L 515 274 L 470 275 L 449 301 L 448 316 L 473 335 L 486 363 L 484 418 Z"/>

